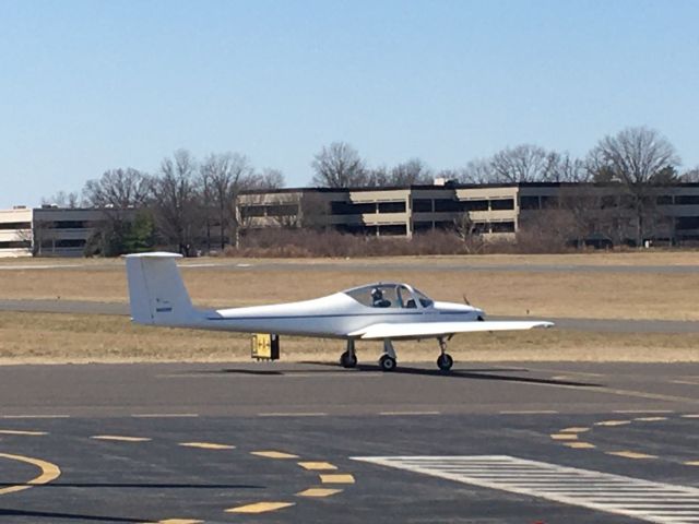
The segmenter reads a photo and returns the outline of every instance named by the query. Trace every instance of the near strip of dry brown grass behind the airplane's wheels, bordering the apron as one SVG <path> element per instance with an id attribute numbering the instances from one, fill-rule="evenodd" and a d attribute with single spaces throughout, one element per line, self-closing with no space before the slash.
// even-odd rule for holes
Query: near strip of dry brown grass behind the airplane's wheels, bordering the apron
<path id="1" fill-rule="evenodd" d="M 455 337 L 460 361 L 699 361 L 699 334 L 579 333 L 534 330 Z M 343 343 L 284 337 L 284 360 L 335 361 Z M 378 343 L 359 343 L 359 358 L 374 361 Z M 434 360 L 434 341 L 396 343 L 401 361 Z M 247 335 L 132 325 L 125 317 L 0 313 L 0 364 L 247 361 Z"/>

